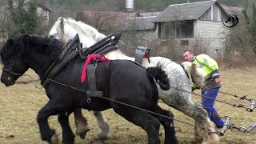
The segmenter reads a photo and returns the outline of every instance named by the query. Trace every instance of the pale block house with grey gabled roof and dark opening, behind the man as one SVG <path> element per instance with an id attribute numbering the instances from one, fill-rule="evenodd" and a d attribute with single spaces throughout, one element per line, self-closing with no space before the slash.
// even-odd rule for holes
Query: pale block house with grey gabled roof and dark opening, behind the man
<path id="1" fill-rule="evenodd" d="M 188 2 L 166 7 L 152 22 L 162 42 L 175 38 L 176 49 L 204 49 L 207 54 L 223 53 L 229 29 L 223 26 L 226 11 L 214 1 Z"/>

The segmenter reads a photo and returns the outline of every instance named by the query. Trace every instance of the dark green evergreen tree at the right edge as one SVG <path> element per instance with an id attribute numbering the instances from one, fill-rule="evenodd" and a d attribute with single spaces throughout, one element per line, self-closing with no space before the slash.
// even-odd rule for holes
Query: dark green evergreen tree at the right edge
<path id="1" fill-rule="evenodd" d="M 249 15 L 246 12 L 246 9 L 242 10 L 242 13 L 245 16 L 246 28 L 247 28 L 247 30 L 249 31 L 249 34 L 250 34 L 250 44 L 252 46 L 254 54 L 256 54 L 256 6 L 255 6 L 255 3 L 253 5 L 251 20 L 250 20 Z"/>

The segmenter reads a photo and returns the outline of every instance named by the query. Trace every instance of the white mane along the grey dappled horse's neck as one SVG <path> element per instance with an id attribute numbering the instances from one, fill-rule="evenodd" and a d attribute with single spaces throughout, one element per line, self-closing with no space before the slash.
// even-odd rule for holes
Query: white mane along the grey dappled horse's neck
<path id="1" fill-rule="evenodd" d="M 85 22 L 76 21 L 72 18 L 64 18 L 64 22 L 66 22 L 70 26 L 73 26 L 76 31 L 81 32 L 82 34 L 85 34 L 88 37 L 93 37 L 97 41 L 106 37 L 106 35 L 101 34 L 93 26 L 87 25 Z"/>

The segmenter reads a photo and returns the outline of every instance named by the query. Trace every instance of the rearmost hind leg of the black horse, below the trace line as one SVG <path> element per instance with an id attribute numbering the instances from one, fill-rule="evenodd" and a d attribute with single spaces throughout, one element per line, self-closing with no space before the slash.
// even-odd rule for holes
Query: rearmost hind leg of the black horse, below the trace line
<path id="1" fill-rule="evenodd" d="M 156 105 L 151 109 L 156 114 L 152 114 L 155 118 L 158 118 L 159 122 L 165 129 L 165 144 L 167 143 L 178 143 L 178 140 L 175 136 L 174 130 L 174 114 L 168 110 L 163 110 L 160 106 Z M 161 114 L 161 115 L 160 115 Z M 166 117 L 164 117 L 166 116 Z"/>

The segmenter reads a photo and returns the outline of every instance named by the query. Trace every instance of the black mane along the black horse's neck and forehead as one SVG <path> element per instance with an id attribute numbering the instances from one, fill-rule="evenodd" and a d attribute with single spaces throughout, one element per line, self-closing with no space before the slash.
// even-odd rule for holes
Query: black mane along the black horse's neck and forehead
<path id="1" fill-rule="evenodd" d="M 22 54 L 30 52 L 32 46 L 39 52 L 51 54 L 54 58 L 58 57 L 60 49 L 64 43 L 54 38 L 43 37 L 39 35 L 21 34 L 6 41 L 0 51 L 1 59 L 18 58 Z"/>

